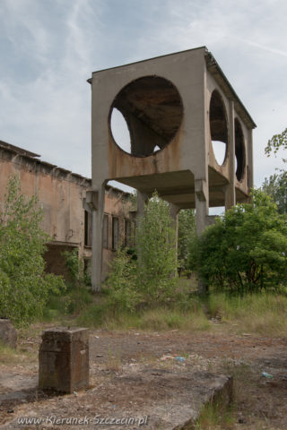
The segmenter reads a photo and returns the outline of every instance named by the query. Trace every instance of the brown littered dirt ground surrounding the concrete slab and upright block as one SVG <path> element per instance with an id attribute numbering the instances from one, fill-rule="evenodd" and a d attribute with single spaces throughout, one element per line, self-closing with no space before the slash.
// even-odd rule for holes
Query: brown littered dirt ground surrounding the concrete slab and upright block
<path id="1" fill-rule="evenodd" d="M 71 426 L 16 426 L 15 417 L 67 417 L 77 414 L 107 416 L 115 410 L 143 413 L 147 403 L 159 401 L 150 380 L 133 380 L 139 370 L 149 371 L 161 383 L 161 372 L 187 374 L 207 371 L 231 374 L 234 401 L 231 418 L 222 424 L 198 428 L 272 430 L 287 428 L 287 339 L 237 335 L 213 323 L 211 331 L 125 332 L 91 331 L 91 386 L 87 391 L 65 396 L 48 396 L 35 390 L 38 376 L 39 333 L 23 333 L 19 352 L 10 362 L 0 363 L 1 428 L 72 428 Z M 182 357 L 180 360 L 178 357 Z M 268 377 L 262 373 L 272 375 Z M 158 379 L 156 379 L 158 377 Z M 126 378 L 126 379 L 125 379 Z M 126 383 L 122 383 L 122 382 Z M 124 387 L 124 388 L 123 388 Z M 18 398 L 13 398 L 14 392 Z M 11 394 L 11 399 L 6 399 Z M 162 399 L 168 399 L 162 391 Z M 161 399 L 161 400 L 162 400 Z M 72 414 L 73 412 L 73 414 Z M 87 426 L 77 427 L 87 428 Z M 112 428 L 107 426 L 107 428 Z M 117 426 L 117 428 L 134 428 Z M 144 427 L 143 427 L 144 428 Z M 152 427 L 160 428 L 160 427 Z M 162 427 L 161 427 L 162 428 Z"/>

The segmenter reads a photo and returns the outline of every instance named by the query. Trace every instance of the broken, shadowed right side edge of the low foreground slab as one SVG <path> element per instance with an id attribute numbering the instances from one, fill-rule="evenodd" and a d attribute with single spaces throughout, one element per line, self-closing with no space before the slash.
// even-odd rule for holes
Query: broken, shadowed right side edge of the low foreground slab
<path id="1" fill-rule="evenodd" d="M 202 416 L 204 409 L 208 406 L 214 408 L 227 409 L 233 401 L 233 376 L 230 375 L 219 375 L 225 379 L 225 383 L 221 386 L 213 389 L 205 397 L 202 407 L 196 411 L 196 416 L 187 419 L 185 423 L 179 426 L 173 427 L 172 430 L 196 430 L 196 422 Z"/>

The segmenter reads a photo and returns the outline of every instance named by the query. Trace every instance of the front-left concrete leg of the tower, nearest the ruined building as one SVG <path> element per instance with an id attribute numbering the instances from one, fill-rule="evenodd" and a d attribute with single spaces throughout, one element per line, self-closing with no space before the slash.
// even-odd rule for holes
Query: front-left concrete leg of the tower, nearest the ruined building
<path id="1" fill-rule="evenodd" d="M 102 222 L 105 205 L 106 183 L 100 185 L 98 191 L 87 192 L 85 204 L 91 209 L 91 288 L 100 291 L 102 269 Z"/>

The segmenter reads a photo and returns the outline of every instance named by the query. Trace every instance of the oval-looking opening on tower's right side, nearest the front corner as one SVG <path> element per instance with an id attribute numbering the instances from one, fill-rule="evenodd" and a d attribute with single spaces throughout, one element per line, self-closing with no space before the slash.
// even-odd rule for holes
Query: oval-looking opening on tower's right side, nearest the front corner
<path id="1" fill-rule="evenodd" d="M 213 154 L 217 164 L 222 166 L 226 159 L 228 145 L 228 126 L 225 106 L 220 93 L 213 90 L 210 100 L 209 121 Z"/>

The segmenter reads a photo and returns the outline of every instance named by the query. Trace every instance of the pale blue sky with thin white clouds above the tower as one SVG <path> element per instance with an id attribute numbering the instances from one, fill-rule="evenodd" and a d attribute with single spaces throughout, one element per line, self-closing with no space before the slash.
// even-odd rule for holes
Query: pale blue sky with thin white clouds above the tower
<path id="1" fill-rule="evenodd" d="M 0 140 L 91 176 L 93 71 L 206 46 L 257 124 L 255 185 L 287 127 L 286 0 L 0 0 Z M 286 158 L 286 156 L 285 156 Z"/>

